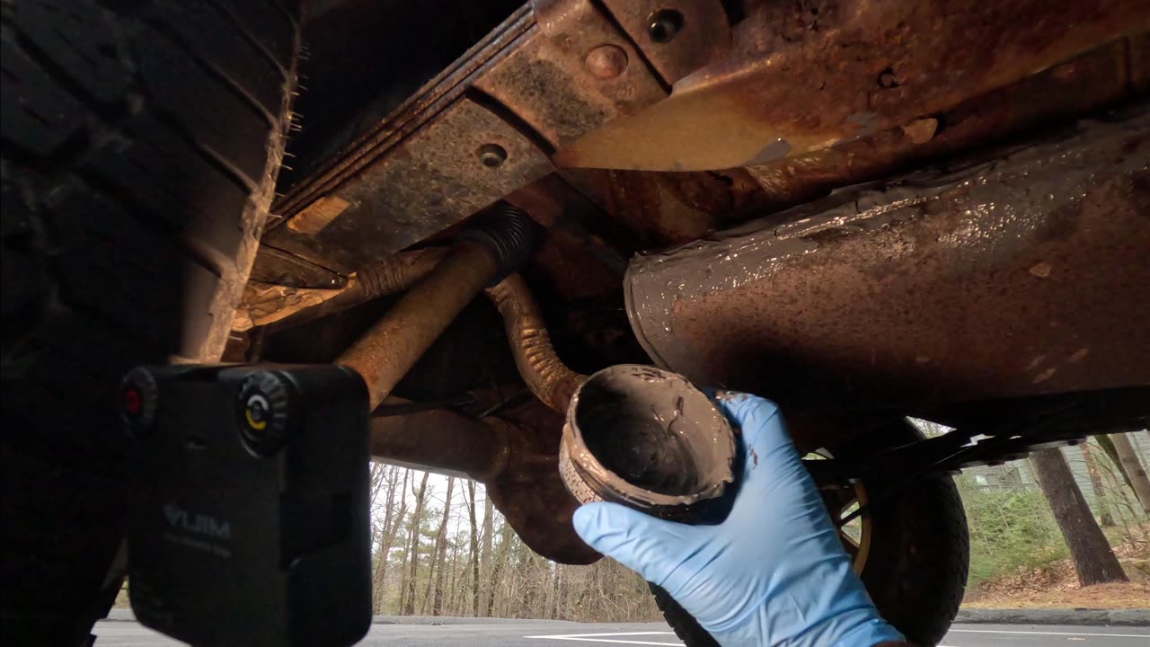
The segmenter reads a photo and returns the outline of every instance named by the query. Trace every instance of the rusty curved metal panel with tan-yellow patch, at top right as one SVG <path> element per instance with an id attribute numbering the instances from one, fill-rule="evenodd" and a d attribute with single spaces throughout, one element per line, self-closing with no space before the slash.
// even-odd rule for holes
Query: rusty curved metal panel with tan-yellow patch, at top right
<path id="1" fill-rule="evenodd" d="M 1150 29 L 1124 0 L 768 3 L 731 55 L 554 157 L 560 166 L 705 170 L 766 163 L 931 117 Z"/>

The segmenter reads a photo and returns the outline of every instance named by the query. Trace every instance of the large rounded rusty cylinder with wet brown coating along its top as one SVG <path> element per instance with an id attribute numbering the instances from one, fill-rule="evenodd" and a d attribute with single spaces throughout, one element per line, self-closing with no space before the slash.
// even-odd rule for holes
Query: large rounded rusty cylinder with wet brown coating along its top
<path id="1" fill-rule="evenodd" d="M 798 408 L 1147 385 L 1147 205 L 1141 106 L 637 258 L 628 311 L 660 365 Z"/>

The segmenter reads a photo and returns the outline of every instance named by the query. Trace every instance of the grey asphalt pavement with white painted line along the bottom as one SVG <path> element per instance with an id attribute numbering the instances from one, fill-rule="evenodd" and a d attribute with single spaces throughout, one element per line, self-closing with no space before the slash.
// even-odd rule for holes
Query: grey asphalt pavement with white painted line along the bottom
<path id="1" fill-rule="evenodd" d="M 562 621 L 421 618 L 424 624 L 373 624 L 361 646 L 388 647 L 682 647 L 662 623 L 582 624 Z M 432 623 L 432 624 L 425 624 Z M 135 622 L 100 622 L 97 647 L 182 645 Z M 940 647 L 1150 647 L 1150 627 L 954 625 Z"/>

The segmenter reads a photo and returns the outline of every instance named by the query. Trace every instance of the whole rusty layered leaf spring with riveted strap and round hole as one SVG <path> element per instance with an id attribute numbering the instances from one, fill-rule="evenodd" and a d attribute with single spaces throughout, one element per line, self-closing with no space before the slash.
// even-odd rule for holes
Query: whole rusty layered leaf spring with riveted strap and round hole
<path id="1" fill-rule="evenodd" d="M 286 226 L 264 241 L 353 272 L 538 180 L 555 146 L 667 96 L 595 3 L 538 0 L 534 8 L 278 200 Z"/>

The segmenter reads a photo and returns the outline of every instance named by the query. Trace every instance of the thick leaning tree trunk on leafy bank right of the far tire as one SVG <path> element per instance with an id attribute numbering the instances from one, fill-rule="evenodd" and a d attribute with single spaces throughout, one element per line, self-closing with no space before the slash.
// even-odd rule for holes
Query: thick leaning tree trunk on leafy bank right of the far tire
<path id="1" fill-rule="evenodd" d="M 1044 449 L 1030 455 L 1038 487 L 1046 495 L 1050 511 L 1066 540 L 1079 584 L 1090 586 L 1107 581 L 1129 581 L 1106 535 L 1094 520 L 1086 498 L 1074 482 L 1074 474 L 1061 449 Z"/>

